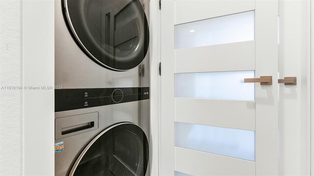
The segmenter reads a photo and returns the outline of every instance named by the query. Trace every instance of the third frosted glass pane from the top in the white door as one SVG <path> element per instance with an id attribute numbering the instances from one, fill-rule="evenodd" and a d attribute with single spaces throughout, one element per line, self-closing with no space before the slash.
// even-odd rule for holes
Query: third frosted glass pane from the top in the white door
<path id="1" fill-rule="evenodd" d="M 175 122 L 175 146 L 255 161 L 254 131 Z"/>

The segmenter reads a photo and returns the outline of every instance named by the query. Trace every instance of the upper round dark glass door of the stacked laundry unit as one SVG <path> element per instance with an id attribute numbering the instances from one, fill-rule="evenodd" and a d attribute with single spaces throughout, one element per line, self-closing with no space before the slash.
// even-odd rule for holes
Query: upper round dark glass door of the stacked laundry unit
<path id="1" fill-rule="evenodd" d="M 149 47 L 149 27 L 139 0 L 63 0 L 69 28 L 85 53 L 101 66 L 138 66 Z"/>

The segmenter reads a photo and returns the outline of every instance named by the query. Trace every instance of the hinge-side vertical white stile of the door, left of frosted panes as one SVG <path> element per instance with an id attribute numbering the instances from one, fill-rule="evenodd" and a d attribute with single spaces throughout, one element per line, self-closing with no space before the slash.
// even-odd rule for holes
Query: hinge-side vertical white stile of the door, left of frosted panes
<path id="1" fill-rule="evenodd" d="M 161 63 L 161 76 L 167 76 L 166 79 L 161 79 L 160 86 L 160 149 L 159 149 L 159 176 L 172 176 L 174 175 L 174 156 L 175 156 L 175 138 L 174 138 L 174 100 L 167 102 L 167 97 L 174 97 L 174 91 L 163 91 L 163 86 L 167 85 L 169 90 L 174 90 L 174 52 L 163 52 L 168 51 L 167 46 L 163 45 L 163 41 L 174 44 L 174 39 L 171 35 L 174 31 L 174 13 L 172 12 L 174 5 L 173 0 L 162 0 L 161 1 L 161 33 L 160 33 L 160 44 L 161 44 L 161 55 L 162 58 L 173 58 L 168 63 Z M 167 13 L 164 13 L 167 12 Z M 163 22 L 162 19 L 169 18 L 167 22 Z M 169 31 L 168 33 L 166 31 Z M 171 31 L 171 32 L 170 32 Z M 174 49 L 174 48 L 172 48 Z M 170 84 L 169 84 L 170 83 Z M 166 89 L 164 89 L 166 90 Z M 162 108 L 163 104 L 168 104 L 167 107 Z M 169 157 L 171 158 L 169 160 Z"/>

